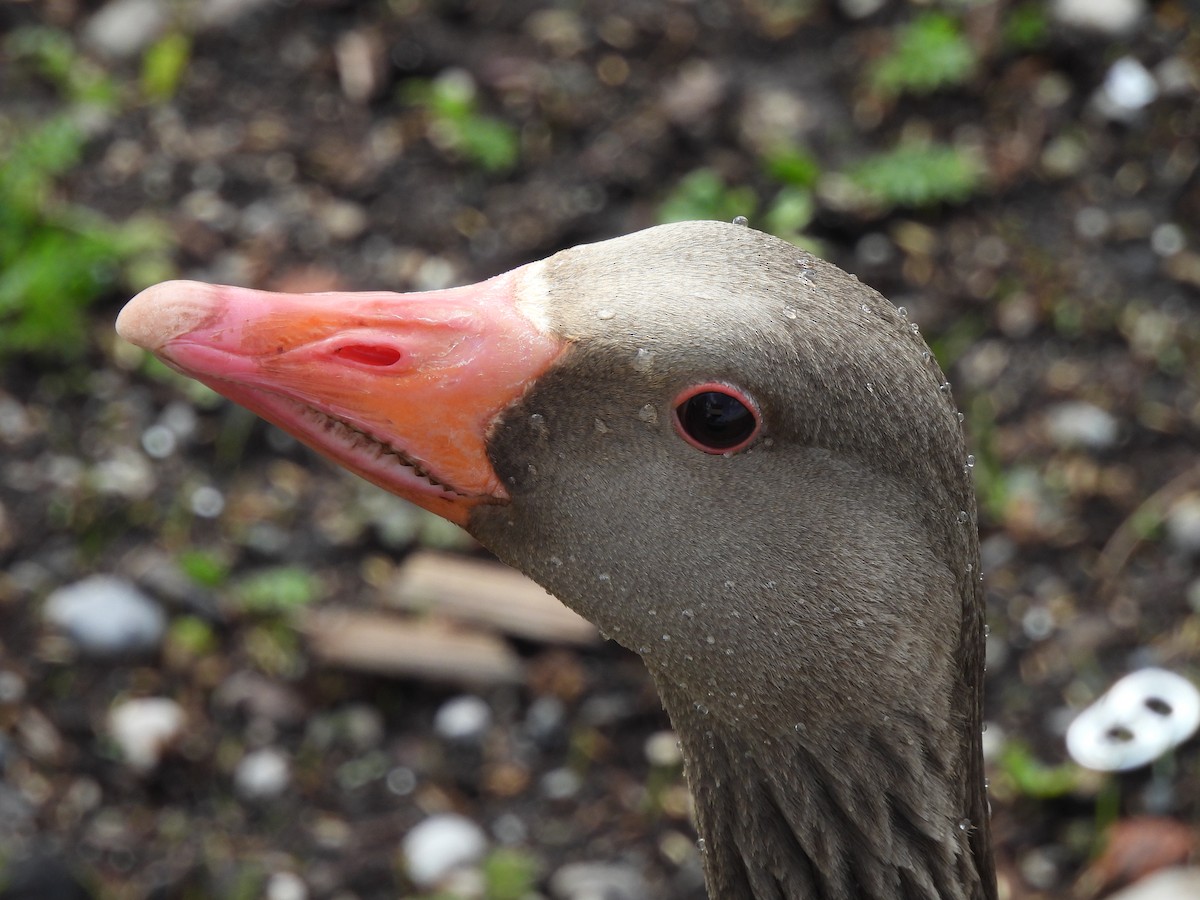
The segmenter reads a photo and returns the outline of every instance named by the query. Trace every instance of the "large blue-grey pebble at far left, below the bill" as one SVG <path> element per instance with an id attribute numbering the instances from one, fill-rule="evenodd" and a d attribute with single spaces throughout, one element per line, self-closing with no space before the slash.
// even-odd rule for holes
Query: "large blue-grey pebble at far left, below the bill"
<path id="1" fill-rule="evenodd" d="M 42 616 L 92 656 L 155 650 L 167 629 L 158 604 L 112 575 L 92 575 L 59 588 L 46 599 Z"/>

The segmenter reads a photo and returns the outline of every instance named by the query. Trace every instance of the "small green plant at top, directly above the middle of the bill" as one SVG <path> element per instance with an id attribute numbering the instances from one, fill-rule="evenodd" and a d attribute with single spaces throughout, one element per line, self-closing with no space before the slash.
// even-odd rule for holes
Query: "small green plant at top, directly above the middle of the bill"
<path id="1" fill-rule="evenodd" d="M 475 84 L 464 72 L 448 72 L 431 82 L 409 82 L 404 97 L 430 116 L 430 139 L 486 172 L 517 164 L 521 140 L 511 125 L 479 112 Z"/>

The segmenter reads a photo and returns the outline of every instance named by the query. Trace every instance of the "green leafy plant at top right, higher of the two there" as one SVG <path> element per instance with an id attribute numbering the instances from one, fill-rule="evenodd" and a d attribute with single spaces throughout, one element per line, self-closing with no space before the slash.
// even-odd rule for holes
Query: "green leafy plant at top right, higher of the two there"
<path id="1" fill-rule="evenodd" d="M 892 52 L 871 70 L 871 86 L 886 96 L 931 94 L 964 84 L 977 65 L 976 52 L 958 20 L 925 12 L 900 29 Z"/>

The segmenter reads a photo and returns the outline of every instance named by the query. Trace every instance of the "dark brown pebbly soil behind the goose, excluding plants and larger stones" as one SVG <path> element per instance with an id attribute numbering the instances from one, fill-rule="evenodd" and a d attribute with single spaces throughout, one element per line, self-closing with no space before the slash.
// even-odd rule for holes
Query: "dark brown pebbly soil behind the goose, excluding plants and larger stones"
<path id="1" fill-rule="evenodd" d="M 1200 25 L 1186 4 L 1153 4 L 1124 37 L 1043 18 L 1025 44 L 1006 34 L 1030 6 L 949 4 L 970 7 L 955 14 L 974 71 L 899 98 L 868 78 L 924 8 L 898 0 L 863 20 L 832 0 L 247 6 L 187 26 L 174 95 L 151 103 L 131 88 L 62 184 L 65 199 L 113 220 L 160 216 L 186 277 L 295 290 L 466 282 L 653 224 L 701 167 L 766 206 L 779 191 L 763 164 L 772 143 L 806 146 L 824 178 L 805 234 L 920 324 L 978 457 L 1007 896 L 1094 896 L 1159 864 L 1097 863 L 1116 822 L 1175 829 L 1187 856 L 1195 740 L 1128 774 L 1044 768 L 1067 761 L 1072 712 L 1126 672 L 1200 678 L 1200 539 L 1184 527 L 1200 504 Z M 98 7 L 8 4 L 0 30 L 50 25 L 91 53 Z M 1094 97 L 1122 56 L 1160 90 L 1117 120 Z M 137 60 L 95 59 L 136 84 Z M 449 146 L 412 100 L 413 83 L 450 68 L 474 80 L 479 116 L 518 136 L 511 168 Z M 0 85 L 0 137 L 61 102 L 2 55 Z M 982 186 L 919 210 L 838 202 L 834 173 L 913 134 L 972 148 Z M 146 430 L 196 395 L 112 334 L 126 296 L 90 310 L 82 361 L 16 356 L 0 371 L 0 674 L 12 689 L 0 695 L 0 896 L 71 896 L 18 892 L 64 866 L 114 899 L 260 896 L 284 871 L 313 898 L 414 895 L 400 842 L 456 810 L 536 860 L 547 894 L 564 864 L 589 860 L 640 874 L 646 896 L 702 898 L 679 775 L 646 760 L 668 722 L 635 656 L 521 644 L 527 683 L 478 688 L 494 722 L 457 746 L 432 720 L 460 686 L 317 666 L 290 619 L 234 602 L 246 576 L 293 565 L 317 576 L 318 602 L 370 607 L 371 572 L 415 533 L 480 551 L 414 512 L 380 512 L 366 487 L 211 398 L 175 452 L 150 458 Z M 1115 434 L 1062 438 L 1051 424 L 1074 401 L 1106 410 Z M 221 492 L 218 515 L 194 514 L 198 487 Z M 397 520 L 407 530 L 389 529 Z M 197 551 L 228 572 L 182 576 Z M 161 652 L 89 661 L 47 629 L 44 598 L 95 572 L 164 604 Z M 197 648 L 180 622 L 206 624 L 211 643 Z M 131 696 L 172 697 L 187 714 L 149 774 L 107 737 L 108 710 Z M 547 698 L 563 714 L 539 730 L 530 709 Z M 292 780 L 248 800 L 233 773 L 260 746 L 292 758 Z M 564 769 L 580 784 L 551 796 L 546 775 Z M 1048 787 L 1054 776 L 1066 786 Z"/>

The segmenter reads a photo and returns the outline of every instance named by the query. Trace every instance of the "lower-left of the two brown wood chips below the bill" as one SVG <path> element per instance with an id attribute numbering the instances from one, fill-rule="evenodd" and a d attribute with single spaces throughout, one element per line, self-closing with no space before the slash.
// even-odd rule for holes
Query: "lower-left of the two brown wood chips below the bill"
<path id="1" fill-rule="evenodd" d="M 518 684 L 520 656 L 504 641 L 443 622 L 323 608 L 301 625 L 325 665 L 461 685 Z"/>

